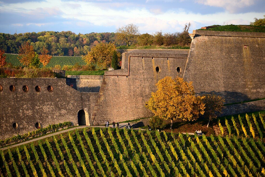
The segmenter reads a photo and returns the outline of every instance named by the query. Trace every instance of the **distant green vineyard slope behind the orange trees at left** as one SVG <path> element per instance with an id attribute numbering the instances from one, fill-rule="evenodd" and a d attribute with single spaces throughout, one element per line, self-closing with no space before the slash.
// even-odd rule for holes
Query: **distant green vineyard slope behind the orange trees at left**
<path id="1" fill-rule="evenodd" d="M 17 59 L 17 54 L 5 54 L 5 56 L 7 63 L 11 63 L 13 66 L 23 66 Z M 54 67 L 57 64 L 63 67 L 64 65 L 74 65 L 76 63 L 79 63 L 80 65 L 86 64 L 82 60 L 82 57 L 52 56 L 50 63 L 47 64 L 47 67 Z"/>

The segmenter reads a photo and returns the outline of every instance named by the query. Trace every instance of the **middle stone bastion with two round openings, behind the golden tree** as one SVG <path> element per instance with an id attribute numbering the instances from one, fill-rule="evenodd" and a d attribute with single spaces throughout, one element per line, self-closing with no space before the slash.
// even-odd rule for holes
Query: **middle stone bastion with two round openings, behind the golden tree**
<path id="1" fill-rule="evenodd" d="M 165 76 L 183 75 L 188 50 L 133 50 L 123 54 L 121 70 L 105 71 L 92 120 L 132 120 L 152 113 L 145 102 Z M 179 72 L 177 68 L 179 67 Z"/>

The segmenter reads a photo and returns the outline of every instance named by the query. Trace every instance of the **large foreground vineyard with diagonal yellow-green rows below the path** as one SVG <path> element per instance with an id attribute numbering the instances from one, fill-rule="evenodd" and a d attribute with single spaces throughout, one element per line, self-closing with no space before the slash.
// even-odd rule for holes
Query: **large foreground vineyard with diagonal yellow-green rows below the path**
<path id="1" fill-rule="evenodd" d="M 0 153 L 0 176 L 265 174 L 264 143 L 252 137 L 84 128 Z"/>

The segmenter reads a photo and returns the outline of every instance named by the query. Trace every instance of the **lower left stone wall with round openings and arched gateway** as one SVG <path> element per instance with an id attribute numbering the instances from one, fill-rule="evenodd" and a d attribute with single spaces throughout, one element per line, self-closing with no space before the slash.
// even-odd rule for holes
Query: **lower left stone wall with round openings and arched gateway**
<path id="1" fill-rule="evenodd" d="M 49 124 L 70 121 L 78 125 L 78 111 L 82 109 L 88 114 L 89 125 L 91 106 L 94 109 L 98 97 L 98 93 L 78 92 L 66 84 L 66 79 L 0 78 L 0 85 L 0 139 Z"/>

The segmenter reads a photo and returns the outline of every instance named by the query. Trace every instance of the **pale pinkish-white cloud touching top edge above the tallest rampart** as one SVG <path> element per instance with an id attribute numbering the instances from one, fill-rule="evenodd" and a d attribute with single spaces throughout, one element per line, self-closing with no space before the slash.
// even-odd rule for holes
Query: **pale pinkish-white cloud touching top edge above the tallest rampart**
<path id="1" fill-rule="evenodd" d="M 253 5 L 255 0 L 196 0 L 196 2 L 208 6 L 222 7 L 234 13 L 238 8 Z"/>

